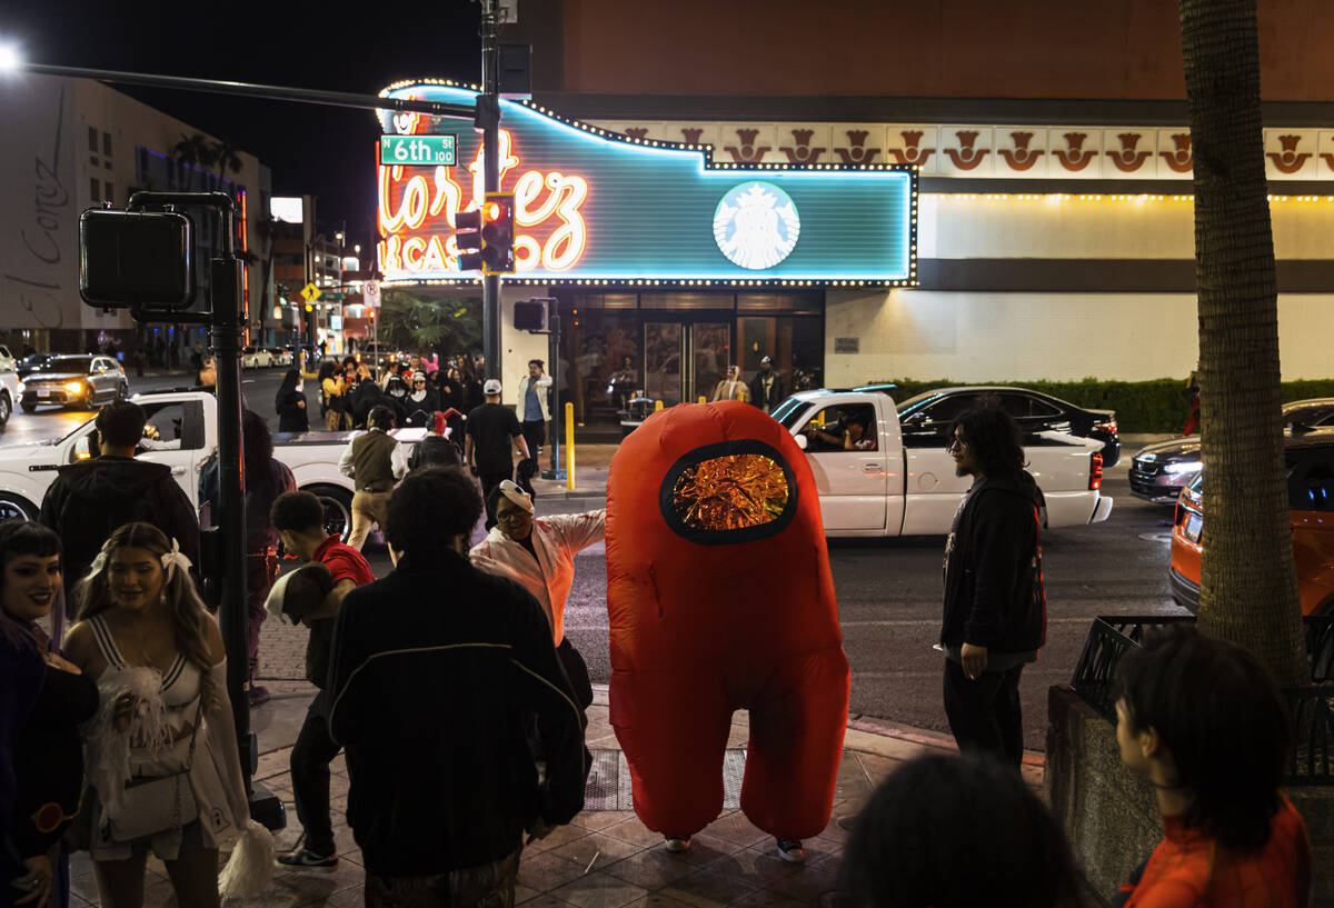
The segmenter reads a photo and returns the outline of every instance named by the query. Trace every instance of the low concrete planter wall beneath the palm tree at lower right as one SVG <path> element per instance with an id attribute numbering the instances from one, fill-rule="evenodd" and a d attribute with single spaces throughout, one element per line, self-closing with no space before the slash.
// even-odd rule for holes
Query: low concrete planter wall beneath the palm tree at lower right
<path id="1" fill-rule="evenodd" d="M 1103 899 L 1162 840 L 1153 787 L 1121 763 L 1115 727 L 1069 687 L 1047 693 L 1047 799 Z M 1314 908 L 1334 908 L 1334 787 L 1285 792 L 1311 839 Z"/>

